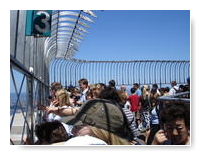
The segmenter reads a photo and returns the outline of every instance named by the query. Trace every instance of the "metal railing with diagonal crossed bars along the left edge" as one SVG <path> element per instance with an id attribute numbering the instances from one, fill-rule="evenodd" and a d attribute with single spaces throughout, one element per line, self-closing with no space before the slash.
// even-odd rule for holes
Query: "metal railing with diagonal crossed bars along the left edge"
<path id="1" fill-rule="evenodd" d="M 10 57 L 12 92 L 10 112 L 10 143 L 23 144 L 23 139 L 34 140 L 35 124 L 41 123 L 43 113 L 38 104 L 47 104 L 49 86 L 29 72 L 20 62 Z M 22 77 L 20 79 L 19 75 Z M 24 96 L 25 95 L 25 96 Z"/>

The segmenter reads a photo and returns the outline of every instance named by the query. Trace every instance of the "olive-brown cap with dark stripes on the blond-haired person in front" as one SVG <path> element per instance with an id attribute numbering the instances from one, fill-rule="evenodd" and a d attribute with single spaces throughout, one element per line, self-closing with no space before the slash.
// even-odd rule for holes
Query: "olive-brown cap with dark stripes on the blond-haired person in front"
<path id="1" fill-rule="evenodd" d="M 125 115 L 112 101 L 105 99 L 89 100 L 81 106 L 73 117 L 62 120 L 70 125 L 91 125 L 126 137 Z M 70 118 L 70 119 L 69 119 Z"/>

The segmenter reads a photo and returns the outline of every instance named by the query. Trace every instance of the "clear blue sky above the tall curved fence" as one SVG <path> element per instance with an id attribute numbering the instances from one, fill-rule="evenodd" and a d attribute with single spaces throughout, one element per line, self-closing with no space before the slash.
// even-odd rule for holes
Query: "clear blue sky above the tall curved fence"
<path id="1" fill-rule="evenodd" d="M 104 10 L 75 58 L 190 60 L 189 10 Z"/>

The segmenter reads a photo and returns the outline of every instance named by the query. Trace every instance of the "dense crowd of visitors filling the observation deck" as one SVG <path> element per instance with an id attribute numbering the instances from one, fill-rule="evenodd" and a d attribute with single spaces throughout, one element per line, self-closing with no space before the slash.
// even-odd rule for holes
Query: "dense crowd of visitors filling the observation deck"
<path id="1" fill-rule="evenodd" d="M 183 102 L 158 101 L 160 96 L 189 91 L 186 85 L 171 82 L 171 88 L 140 86 L 131 94 L 115 80 L 108 85 L 78 81 L 79 88 L 66 89 L 51 84 L 49 105 L 39 104 L 44 122 L 36 125 L 37 145 L 188 145 L 190 144 L 190 106 Z"/>

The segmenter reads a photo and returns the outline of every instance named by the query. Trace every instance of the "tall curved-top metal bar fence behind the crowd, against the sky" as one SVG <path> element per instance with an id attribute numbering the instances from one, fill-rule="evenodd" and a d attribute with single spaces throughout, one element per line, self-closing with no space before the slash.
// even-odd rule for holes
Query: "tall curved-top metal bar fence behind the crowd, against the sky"
<path id="1" fill-rule="evenodd" d="M 114 79 L 116 85 L 170 84 L 171 81 L 186 83 L 190 75 L 189 61 L 132 60 L 132 61 L 86 61 L 55 59 L 50 64 L 50 81 L 63 86 L 77 86 L 86 78 L 90 83 L 105 83 Z"/>

